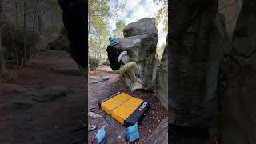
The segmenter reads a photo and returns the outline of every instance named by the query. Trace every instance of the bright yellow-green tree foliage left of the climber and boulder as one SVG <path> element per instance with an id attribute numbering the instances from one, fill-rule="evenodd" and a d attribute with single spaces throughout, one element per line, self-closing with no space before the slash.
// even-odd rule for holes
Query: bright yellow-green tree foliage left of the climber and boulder
<path id="1" fill-rule="evenodd" d="M 100 60 L 106 57 L 106 46 L 110 36 L 108 20 L 118 14 L 119 9 L 110 10 L 110 0 L 89 0 L 88 1 L 88 22 L 89 22 L 89 51 L 90 55 Z M 119 5 L 119 4 L 118 4 Z M 122 4 L 120 4 L 120 7 Z M 122 29 L 123 22 L 118 23 Z M 120 32 L 118 32 L 119 35 Z"/>

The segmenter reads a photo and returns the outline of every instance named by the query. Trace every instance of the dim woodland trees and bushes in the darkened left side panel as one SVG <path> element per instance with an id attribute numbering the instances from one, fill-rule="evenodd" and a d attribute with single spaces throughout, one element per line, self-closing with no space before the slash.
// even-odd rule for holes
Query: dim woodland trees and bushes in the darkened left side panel
<path id="1" fill-rule="evenodd" d="M 34 58 L 38 54 L 39 45 L 42 48 L 46 42 L 46 38 L 58 37 L 58 32 L 60 27 L 62 27 L 62 10 L 58 6 L 58 0 L 26 0 L 26 6 L 24 6 L 24 2 L 24 0 L 2 1 L 3 18 L 8 25 L 11 25 L 10 29 L 6 27 L 6 23 L 2 25 L 4 56 L 6 62 L 12 64 L 18 63 L 19 65 L 24 60 L 29 62 L 31 58 Z M 24 18 L 25 10 L 26 18 Z M 25 24 L 26 53 L 24 48 Z M 43 32 L 43 35 L 39 36 L 39 29 Z M 25 55 L 26 59 L 24 59 Z"/>

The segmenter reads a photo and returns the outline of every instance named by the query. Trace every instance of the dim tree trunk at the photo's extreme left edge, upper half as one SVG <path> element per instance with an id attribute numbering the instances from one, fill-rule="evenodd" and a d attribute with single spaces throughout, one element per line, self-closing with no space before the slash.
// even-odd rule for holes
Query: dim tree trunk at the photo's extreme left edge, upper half
<path id="1" fill-rule="evenodd" d="M 0 74 L 6 71 L 6 62 L 2 53 L 2 24 L 3 24 L 2 1 L 0 1 Z"/>

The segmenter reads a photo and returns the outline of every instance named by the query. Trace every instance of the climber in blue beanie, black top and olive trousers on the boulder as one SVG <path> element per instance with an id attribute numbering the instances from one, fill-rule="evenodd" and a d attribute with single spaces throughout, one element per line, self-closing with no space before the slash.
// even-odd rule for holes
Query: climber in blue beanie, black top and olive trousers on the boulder
<path id="1" fill-rule="evenodd" d="M 115 74 L 120 74 L 130 80 L 134 84 L 135 89 L 141 89 L 144 83 L 139 79 L 140 74 L 136 62 L 128 62 L 124 64 L 121 61 L 122 56 L 127 54 L 127 51 L 121 51 L 120 42 L 116 38 L 109 38 L 110 45 L 107 46 L 108 58 L 110 61 L 110 67 L 114 70 Z"/>

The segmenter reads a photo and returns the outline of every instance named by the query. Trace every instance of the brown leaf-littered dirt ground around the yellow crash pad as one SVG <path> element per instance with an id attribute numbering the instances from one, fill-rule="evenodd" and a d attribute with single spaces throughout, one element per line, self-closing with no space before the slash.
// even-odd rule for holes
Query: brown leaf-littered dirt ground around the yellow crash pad
<path id="1" fill-rule="evenodd" d="M 151 99 L 150 110 L 146 117 L 142 120 L 142 124 L 139 126 L 140 139 L 139 143 L 144 143 L 146 138 L 152 134 L 154 128 L 158 126 L 162 119 L 166 118 L 167 111 L 162 107 L 158 98 L 154 94 L 147 91 L 134 91 L 130 92 L 128 86 L 122 81 L 122 78 L 118 78 L 118 75 L 113 74 L 109 66 L 100 66 L 98 70 L 90 72 L 88 78 L 89 90 L 88 101 L 89 109 L 98 106 L 98 99 L 106 97 L 108 94 L 114 93 L 114 91 L 123 91 L 126 94 L 130 94 L 136 98 Z M 104 111 L 97 108 L 95 113 L 100 114 L 104 118 L 88 117 L 89 124 L 98 125 L 98 129 L 89 132 L 89 143 L 93 141 L 94 136 L 100 127 L 106 125 L 107 131 L 107 143 L 127 143 L 125 139 L 126 127 L 110 118 Z"/>

